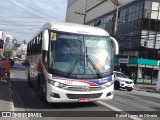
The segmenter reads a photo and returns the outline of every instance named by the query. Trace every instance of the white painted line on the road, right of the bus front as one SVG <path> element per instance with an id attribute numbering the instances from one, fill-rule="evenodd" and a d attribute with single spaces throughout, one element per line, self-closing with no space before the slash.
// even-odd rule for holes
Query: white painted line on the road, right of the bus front
<path id="1" fill-rule="evenodd" d="M 119 108 L 116 108 L 116 107 L 114 107 L 114 106 L 112 106 L 112 105 L 109 105 L 109 104 L 107 104 L 107 103 L 105 103 L 105 102 L 96 101 L 96 103 L 98 103 L 98 104 L 100 104 L 100 105 L 103 105 L 103 106 L 105 106 L 105 107 L 107 107 L 107 108 L 110 108 L 110 109 L 112 109 L 112 110 L 114 110 L 114 111 L 116 111 L 116 112 L 119 112 L 119 113 L 121 113 L 121 114 L 128 114 L 127 112 L 124 112 L 123 110 L 121 110 L 121 109 L 119 109 Z M 138 117 L 135 117 L 135 116 L 128 116 L 128 118 L 131 118 L 131 119 L 133 119 L 133 120 L 142 120 L 142 119 L 140 119 L 140 118 L 138 118 Z"/>

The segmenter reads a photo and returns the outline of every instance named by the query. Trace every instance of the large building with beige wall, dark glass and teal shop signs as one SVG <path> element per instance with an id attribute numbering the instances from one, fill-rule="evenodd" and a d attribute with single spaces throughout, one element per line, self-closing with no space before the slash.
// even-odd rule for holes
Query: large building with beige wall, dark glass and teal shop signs
<path id="1" fill-rule="evenodd" d="M 136 81 L 156 81 L 160 59 L 160 0 L 112 1 L 119 2 L 114 37 L 120 53 L 115 69 L 127 71 L 127 75 L 135 72 Z M 97 26 L 113 36 L 115 13 L 111 0 L 68 0 L 66 22 Z"/>

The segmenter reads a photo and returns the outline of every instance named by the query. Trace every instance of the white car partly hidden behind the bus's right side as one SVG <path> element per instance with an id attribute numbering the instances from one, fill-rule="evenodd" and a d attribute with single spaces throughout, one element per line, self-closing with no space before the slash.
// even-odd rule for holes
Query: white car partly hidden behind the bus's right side
<path id="1" fill-rule="evenodd" d="M 113 71 L 114 73 L 114 88 L 115 89 L 127 89 L 128 91 L 132 91 L 134 88 L 134 81 L 129 79 L 125 74 L 118 71 Z"/>

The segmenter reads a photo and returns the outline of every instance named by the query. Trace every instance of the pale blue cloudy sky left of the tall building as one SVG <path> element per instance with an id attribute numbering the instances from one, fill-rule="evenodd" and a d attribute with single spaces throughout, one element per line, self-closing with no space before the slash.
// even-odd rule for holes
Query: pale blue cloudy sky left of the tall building
<path id="1" fill-rule="evenodd" d="M 0 0 L 0 31 L 30 41 L 46 22 L 64 22 L 68 0 Z"/>

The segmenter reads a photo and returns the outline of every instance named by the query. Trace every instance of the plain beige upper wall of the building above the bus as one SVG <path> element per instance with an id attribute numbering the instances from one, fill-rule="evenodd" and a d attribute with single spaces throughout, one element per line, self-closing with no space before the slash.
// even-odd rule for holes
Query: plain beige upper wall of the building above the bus
<path id="1" fill-rule="evenodd" d="M 73 0 L 68 0 L 68 3 L 72 4 L 68 5 L 66 12 L 66 20 L 65 20 L 66 22 L 83 23 L 84 16 L 76 14 L 75 11 L 80 13 L 85 13 L 85 9 L 89 10 L 90 8 L 101 3 L 102 1 L 105 2 L 103 2 L 102 4 L 98 5 L 97 7 L 86 13 L 86 22 L 98 18 L 99 16 L 104 15 L 115 9 L 111 0 L 75 0 L 74 2 L 72 1 Z M 131 1 L 133 0 L 119 0 L 121 6 Z"/>

